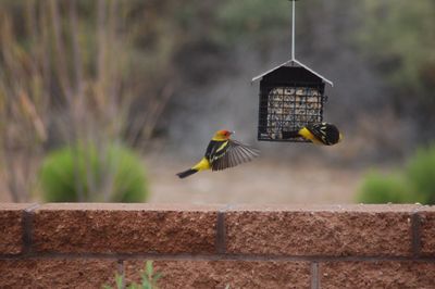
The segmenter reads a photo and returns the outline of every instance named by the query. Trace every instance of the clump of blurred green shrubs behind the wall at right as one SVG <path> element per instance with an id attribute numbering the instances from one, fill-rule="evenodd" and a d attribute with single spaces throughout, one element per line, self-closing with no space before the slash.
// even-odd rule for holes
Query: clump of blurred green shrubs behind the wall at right
<path id="1" fill-rule="evenodd" d="M 357 201 L 435 204 L 435 144 L 418 150 L 398 174 L 368 174 Z"/>

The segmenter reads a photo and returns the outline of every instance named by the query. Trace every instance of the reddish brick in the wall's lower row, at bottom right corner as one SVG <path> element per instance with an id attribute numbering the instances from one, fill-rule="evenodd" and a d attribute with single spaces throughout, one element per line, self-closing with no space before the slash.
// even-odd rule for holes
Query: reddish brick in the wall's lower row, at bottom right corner
<path id="1" fill-rule="evenodd" d="M 327 288 L 435 288 L 435 264 L 424 262 L 328 262 L 320 264 Z"/>

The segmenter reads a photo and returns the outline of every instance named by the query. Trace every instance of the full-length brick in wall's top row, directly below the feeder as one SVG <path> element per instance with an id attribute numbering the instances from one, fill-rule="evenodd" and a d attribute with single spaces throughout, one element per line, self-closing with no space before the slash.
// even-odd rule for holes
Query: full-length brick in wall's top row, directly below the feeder
<path id="1" fill-rule="evenodd" d="M 411 254 L 414 205 L 237 206 L 225 213 L 235 254 Z"/>

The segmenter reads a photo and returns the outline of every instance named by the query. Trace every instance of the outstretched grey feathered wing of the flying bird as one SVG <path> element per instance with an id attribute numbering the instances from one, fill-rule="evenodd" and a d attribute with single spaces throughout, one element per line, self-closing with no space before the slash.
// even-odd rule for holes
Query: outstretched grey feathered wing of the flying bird
<path id="1" fill-rule="evenodd" d="M 225 153 L 214 155 L 211 162 L 212 171 L 222 171 L 241 163 L 250 162 L 259 155 L 259 151 L 236 140 L 228 140 Z"/>

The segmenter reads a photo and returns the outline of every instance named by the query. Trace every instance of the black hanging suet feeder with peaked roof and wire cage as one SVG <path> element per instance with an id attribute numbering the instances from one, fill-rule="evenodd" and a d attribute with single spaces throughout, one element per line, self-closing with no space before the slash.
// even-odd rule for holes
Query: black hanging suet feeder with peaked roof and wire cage
<path id="1" fill-rule="evenodd" d="M 323 121 L 325 84 L 333 83 L 295 59 L 295 0 L 291 17 L 291 59 L 252 78 L 260 80 L 258 140 L 307 141 L 303 126 Z"/>

